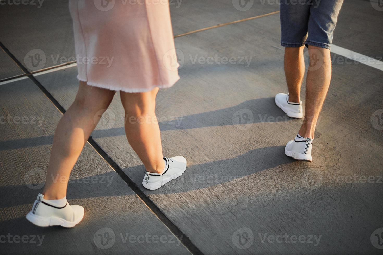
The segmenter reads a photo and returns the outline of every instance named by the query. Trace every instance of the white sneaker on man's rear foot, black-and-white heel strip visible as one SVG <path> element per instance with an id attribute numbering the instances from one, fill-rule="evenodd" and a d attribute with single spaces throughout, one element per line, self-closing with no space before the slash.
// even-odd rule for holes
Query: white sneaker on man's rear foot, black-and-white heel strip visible
<path id="1" fill-rule="evenodd" d="M 304 161 L 313 161 L 311 158 L 311 148 L 313 140 L 311 138 L 303 138 L 296 136 L 294 140 L 288 141 L 285 147 L 285 154 L 293 159 Z"/>

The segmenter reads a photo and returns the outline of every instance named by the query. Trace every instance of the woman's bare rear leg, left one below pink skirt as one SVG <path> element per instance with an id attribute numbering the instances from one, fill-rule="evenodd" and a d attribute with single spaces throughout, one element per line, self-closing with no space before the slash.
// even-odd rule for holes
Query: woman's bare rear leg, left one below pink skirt
<path id="1" fill-rule="evenodd" d="M 75 101 L 62 116 L 54 134 L 44 199 L 66 196 L 70 171 L 115 93 L 80 82 Z"/>

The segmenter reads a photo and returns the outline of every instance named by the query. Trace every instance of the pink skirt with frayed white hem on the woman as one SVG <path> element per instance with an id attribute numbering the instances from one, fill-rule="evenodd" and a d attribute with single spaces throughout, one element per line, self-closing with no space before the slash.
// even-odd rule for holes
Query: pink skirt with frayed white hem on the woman
<path id="1" fill-rule="evenodd" d="M 124 92 L 178 81 L 168 0 L 70 0 L 80 81 Z"/>

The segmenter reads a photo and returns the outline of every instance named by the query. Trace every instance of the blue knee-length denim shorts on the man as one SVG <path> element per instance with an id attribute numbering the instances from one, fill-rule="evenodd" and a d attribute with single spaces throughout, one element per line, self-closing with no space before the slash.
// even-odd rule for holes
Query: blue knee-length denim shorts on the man
<path id="1" fill-rule="evenodd" d="M 330 49 L 343 0 L 280 0 L 281 45 Z"/>

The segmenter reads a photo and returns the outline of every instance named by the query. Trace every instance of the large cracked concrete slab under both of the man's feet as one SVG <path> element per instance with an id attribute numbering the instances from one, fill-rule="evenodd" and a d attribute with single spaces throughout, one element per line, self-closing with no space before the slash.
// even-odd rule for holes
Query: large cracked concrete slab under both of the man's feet
<path id="1" fill-rule="evenodd" d="M 144 167 L 124 138 L 117 96 L 112 118 L 93 138 L 203 253 L 377 254 L 370 236 L 383 216 L 383 134 L 374 120 L 383 73 L 335 62 L 314 162 L 293 161 L 283 148 L 301 121 L 273 102 L 286 91 L 278 23 L 273 15 L 176 39 L 181 80 L 159 93 L 157 114 L 164 155 L 188 159 L 182 177 L 144 190 Z M 75 74 L 72 68 L 38 79 L 67 108 Z"/>

